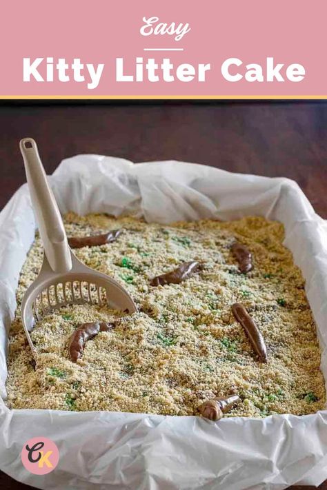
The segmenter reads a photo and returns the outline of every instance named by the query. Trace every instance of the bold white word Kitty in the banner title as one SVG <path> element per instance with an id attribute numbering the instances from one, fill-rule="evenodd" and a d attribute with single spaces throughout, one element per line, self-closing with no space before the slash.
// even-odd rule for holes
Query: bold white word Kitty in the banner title
<path id="1" fill-rule="evenodd" d="M 99 85 L 103 67 L 103 63 L 85 65 L 79 58 L 74 58 L 71 64 L 66 63 L 65 58 L 59 58 L 57 63 L 53 62 L 52 57 L 48 57 L 46 63 L 44 58 L 35 58 L 33 61 L 30 58 L 23 58 L 23 81 L 29 82 L 31 77 L 38 82 L 53 82 L 54 79 L 69 82 L 72 79 L 75 82 L 86 82 L 88 88 L 93 89 Z"/>

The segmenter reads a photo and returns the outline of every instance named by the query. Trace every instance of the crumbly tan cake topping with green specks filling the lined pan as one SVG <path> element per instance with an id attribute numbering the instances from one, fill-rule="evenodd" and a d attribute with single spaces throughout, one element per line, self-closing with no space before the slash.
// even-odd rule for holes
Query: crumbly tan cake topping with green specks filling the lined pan
<path id="1" fill-rule="evenodd" d="M 312 414 L 325 403 L 316 327 L 304 279 L 282 245 L 284 227 L 260 217 L 163 226 L 135 218 L 65 216 L 68 236 L 123 228 L 117 241 L 75 249 L 86 265 L 109 274 L 132 295 L 139 312 L 76 305 L 44 317 L 32 331 L 35 370 L 19 306 L 39 272 L 37 237 L 23 266 L 17 314 L 10 330 L 8 406 L 16 409 L 109 410 L 194 415 L 210 398 L 237 394 L 227 417 Z M 239 267 L 230 247 L 248 247 L 254 268 Z M 181 284 L 150 280 L 199 261 Z M 231 306 L 242 303 L 268 349 L 261 363 Z M 72 363 L 68 340 L 81 323 L 111 322 Z"/>

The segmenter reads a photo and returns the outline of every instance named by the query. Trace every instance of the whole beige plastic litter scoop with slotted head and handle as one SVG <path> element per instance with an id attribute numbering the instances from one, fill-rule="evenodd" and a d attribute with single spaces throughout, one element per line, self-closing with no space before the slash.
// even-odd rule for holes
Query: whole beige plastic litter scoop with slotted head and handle
<path id="1" fill-rule="evenodd" d="M 21 318 L 28 343 L 35 323 L 54 309 L 67 305 L 108 304 L 112 309 L 134 313 L 134 301 L 114 279 L 87 267 L 73 254 L 54 195 L 43 169 L 37 143 L 32 138 L 19 143 L 26 170 L 34 214 L 43 243 L 39 276 L 28 287 L 21 303 Z"/>

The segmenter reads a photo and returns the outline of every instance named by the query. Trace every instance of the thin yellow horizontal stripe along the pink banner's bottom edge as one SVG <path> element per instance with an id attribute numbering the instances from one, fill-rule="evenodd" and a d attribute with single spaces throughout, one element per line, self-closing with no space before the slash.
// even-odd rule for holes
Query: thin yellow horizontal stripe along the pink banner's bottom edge
<path id="1" fill-rule="evenodd" d="M 232 99 L 327 99 L 327 95 L 0 95 L 0 100 L 232 100 Z"/>

